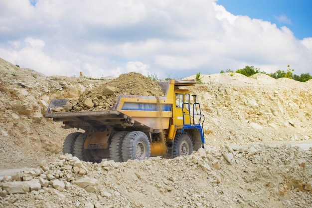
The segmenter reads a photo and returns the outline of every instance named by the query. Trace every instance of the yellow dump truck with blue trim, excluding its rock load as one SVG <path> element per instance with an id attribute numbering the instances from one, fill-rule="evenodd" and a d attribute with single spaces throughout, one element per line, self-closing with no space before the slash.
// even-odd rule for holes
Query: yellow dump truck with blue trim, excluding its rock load
<path id="1" fill-rule="evenodd" d="M 205 118 L 196 95 L 191 102 L 187 89 L 196 82 L 169 79 L 157 83 L 164 96 L 119 95 L 109 110 L 53 112 L 70 100 L 51 100 L 46 118 L 63 122 L 63 128 L 82 130 L 65 138 L 63 154 L 89 162 L 126 162 L 156 156 L 175 158 L 203 148 Z"/>

